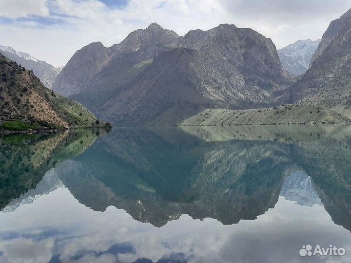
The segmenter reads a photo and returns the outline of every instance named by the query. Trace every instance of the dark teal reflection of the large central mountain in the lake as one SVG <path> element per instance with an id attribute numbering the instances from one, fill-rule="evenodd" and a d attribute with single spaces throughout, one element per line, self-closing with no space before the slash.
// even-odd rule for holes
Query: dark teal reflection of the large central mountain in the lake
<path id="1" fill-rule="evenodd" d="M 87 207 L 112 205 L 156 226 L 181 214 L 235 224 L 274 207 L 291 166 L 288 149 L 271 142 L 204 143 L 184 133 L 188 142 L 172 144 L 157 133 L 115 130 L 55 171 Z"/>

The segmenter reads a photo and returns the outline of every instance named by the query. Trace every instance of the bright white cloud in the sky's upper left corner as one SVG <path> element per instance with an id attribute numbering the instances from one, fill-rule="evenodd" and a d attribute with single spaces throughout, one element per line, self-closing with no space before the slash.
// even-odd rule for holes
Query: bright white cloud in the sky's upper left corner
<path id="1" fill-rule="evenodd" d="M 1 0 L 0 16 L 17 19 L 28 16 L 49 16 L 49 8 L 46 6 L 46 0 Z"/>

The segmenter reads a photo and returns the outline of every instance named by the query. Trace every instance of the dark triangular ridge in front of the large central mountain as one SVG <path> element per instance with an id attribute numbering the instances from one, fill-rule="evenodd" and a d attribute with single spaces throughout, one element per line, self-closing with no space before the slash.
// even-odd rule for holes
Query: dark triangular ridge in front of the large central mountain
<path id="1" fill-rule="evenodd" d="M 124 92 L 101 107 L 101 116 L 134 126 L 167 125 L 214 105 L 199 86 L 198 71 L 205 70 L 200 56 L 184 48 L 162 53 L 123 88 Z"/>

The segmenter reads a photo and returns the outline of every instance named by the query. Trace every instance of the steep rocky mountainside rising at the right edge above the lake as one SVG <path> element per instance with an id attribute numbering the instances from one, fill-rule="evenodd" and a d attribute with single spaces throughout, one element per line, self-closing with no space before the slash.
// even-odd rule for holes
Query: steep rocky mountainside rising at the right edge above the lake
<path id="1" fill-rule="evenodd" d="M 350 29 L 351 10 L 331 22 L 318 46 L 319 55 L 289 90 L 290 101 L 318 104 L 351 117 Z"/>

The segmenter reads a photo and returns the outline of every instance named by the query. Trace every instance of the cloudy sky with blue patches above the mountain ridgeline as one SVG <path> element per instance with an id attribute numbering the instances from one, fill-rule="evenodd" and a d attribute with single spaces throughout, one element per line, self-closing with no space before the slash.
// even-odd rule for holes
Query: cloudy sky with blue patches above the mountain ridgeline
<path id="1" fill-rule="evenodd" d="M 351 0 L 0 0 L 0 44 L 61 66 L 91 42 L 111 46 L 152 22 L 179 35 L 229 23 L 279 49 L 321 38 L 350 8 Z"/>

